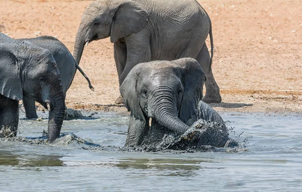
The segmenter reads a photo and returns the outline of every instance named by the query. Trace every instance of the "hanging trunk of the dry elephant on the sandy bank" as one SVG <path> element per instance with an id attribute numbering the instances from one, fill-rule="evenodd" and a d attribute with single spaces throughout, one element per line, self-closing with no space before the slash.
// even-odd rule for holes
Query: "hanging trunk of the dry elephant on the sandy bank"
<path id="1" fill-rule="evenodd" d="M 77 61 L 78 65 L 80 64 L 80 60 L 82 57 L 82 53 L 84 50 L 84 45 L 86 43 L 86 38 L 85 38 L 85 30 L 84 30 L 84 25 L 81 23 L 77 36 L 75 37 L 75 42 L 74 42 L 74 49 L 73 49 L 73 57 L 75 61 Z"/>

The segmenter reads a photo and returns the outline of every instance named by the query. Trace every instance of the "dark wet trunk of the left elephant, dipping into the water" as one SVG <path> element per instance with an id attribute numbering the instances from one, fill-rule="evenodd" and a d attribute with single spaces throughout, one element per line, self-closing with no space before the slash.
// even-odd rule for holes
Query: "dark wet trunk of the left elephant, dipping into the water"
<path id="1" fill-rule="evenodd" d="M 49 110 L 48 140 L 52 143 L 60 135 L 65 112 L 65 98 L 59 84 L 50 88 L 49 101 L 46 104 Z"/>

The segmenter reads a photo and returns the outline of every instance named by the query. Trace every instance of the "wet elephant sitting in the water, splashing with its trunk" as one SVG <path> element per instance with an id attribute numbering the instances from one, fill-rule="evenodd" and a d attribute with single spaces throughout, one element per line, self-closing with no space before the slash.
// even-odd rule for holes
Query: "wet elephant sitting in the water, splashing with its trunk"
<path id="1" fill-rule="evenodd" d="M 124 103 L 131 111 L 125 146 L 157 145 L 167 135 L 189 137 L 188 131 L 198 131 L 196 126 L 190 126 L 203 119 L 215 123 L 215 130 L 209 130 L 209 126 L 199 130 L 199 137 L 207 137 L 203 140 L 211 142 L 194 143 L 224 147 L 229 140 L 224 121 L 201 101 L 205 80 L 203 70 L 193 58 L 136 65 L 120 87 Z M 181 137 L 174 148 L 184 147 L 185 138 Z"/>

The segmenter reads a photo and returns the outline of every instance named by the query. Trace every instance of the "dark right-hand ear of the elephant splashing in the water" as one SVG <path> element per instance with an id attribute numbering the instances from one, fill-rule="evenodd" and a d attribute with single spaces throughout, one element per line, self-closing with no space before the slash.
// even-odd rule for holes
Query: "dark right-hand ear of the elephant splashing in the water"
<path id="1" fill-rule="evenodd" d="M 179 118 L 187 122 L 196 116 L 198 102 L 202 99 L 205 75 L 197 60 L 193 58 L 181 58 L 175 60 L 184 67 L 183 84 L 184 93 L 181 102 Z M 196 119 L 197 120 L 197 119 Z"/>

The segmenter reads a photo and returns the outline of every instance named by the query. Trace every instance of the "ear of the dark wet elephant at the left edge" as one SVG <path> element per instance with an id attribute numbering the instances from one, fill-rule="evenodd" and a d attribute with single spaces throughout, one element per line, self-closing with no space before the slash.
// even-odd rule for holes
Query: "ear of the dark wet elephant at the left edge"
<path id="1" fill-rule="evenodd" d="M 11 46 L 11 45 L 9 45 Z M 16 56 L 8 50 L 8 44 L 0 45 L 0 94 L 10 99 L 23 97 L 20 69 Z"/>

